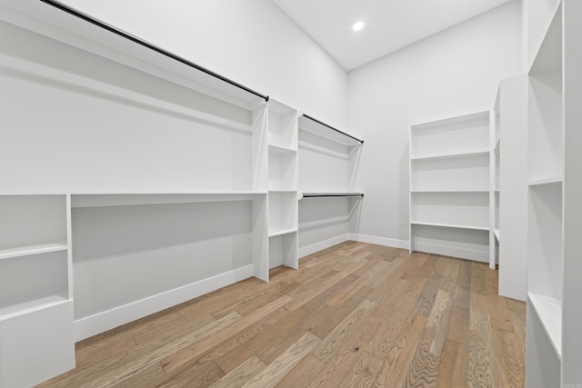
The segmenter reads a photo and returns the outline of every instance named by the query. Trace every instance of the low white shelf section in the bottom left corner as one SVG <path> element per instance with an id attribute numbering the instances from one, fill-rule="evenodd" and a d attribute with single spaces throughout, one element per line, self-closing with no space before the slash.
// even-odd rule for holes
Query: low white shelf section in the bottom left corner
<path id="1" fill-rule="evenodd" d="M 75 367 L 69 204 L 65 194 L 0 195 L 2 387 Z"/>

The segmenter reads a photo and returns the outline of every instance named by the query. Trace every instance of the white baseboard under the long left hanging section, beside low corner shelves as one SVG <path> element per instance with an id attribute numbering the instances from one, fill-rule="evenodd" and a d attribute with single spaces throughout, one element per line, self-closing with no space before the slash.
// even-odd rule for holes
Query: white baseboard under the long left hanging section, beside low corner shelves
<path id="1" fill-rule="evenodd" d="M 115 307 L 103 313 L 95 313 L 75 321 L 75 342 L 98 333 L 103 333 L 125 323 L 157 313 L 168 307 L 184 303 L 205 293 L 210 293 L 229 284 L 253 277 L 253 265 L 237 268 L 224 274 L 186 284 L 184 286 L 149 296 L 145 299 Z"/>

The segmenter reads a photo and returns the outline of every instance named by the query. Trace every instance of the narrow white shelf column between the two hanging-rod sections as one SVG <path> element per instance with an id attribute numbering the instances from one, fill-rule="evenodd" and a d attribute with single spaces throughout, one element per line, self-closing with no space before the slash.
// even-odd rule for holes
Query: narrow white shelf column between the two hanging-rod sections
<path id="1" fill-rule="evenodd" d="M 298 268 L 297 111 L 268 104 L 268 268 Z"/>

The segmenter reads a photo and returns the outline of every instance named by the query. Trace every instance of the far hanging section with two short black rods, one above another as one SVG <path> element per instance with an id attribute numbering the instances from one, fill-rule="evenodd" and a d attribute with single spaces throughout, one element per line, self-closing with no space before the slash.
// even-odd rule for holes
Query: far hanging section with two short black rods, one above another
<path id="1" fill-rule="evenodd" d="M 364 194 L 356 171 L 364 141 L 311 116 L 299 117 L 299 256 L 351 238 Z"/>

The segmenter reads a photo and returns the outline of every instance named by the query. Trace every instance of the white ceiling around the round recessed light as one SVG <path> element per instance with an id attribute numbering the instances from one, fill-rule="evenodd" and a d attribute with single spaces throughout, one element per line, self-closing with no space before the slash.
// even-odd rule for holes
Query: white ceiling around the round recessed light
<path id="1" fill-rule="evenodd" d="M 273 1 L 349 71 L 511 0 Z"/>

